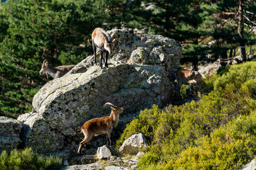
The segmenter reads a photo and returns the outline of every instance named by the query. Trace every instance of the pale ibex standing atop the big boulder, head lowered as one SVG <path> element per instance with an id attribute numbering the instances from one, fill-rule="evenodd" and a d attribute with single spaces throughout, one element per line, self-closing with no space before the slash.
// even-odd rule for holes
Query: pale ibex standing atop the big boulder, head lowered
<path id="1" fill-rule="evenodd" d="M 111 36 L 107 31 L 105 31 L 103 28 L 95 28 L 92 32 L 92 47 L 93 47 L 93 52 L 94 52 L 94 60 L 95 64 L 96 62 L 96 47 L 100 51 L 100 67 L 102 68 L 102 53 L 106 53 L 105 57 L 105 67 L 108 67 L 107 65 L 107 57 L 109 54 L 112 52 L 112 40 Z"/>

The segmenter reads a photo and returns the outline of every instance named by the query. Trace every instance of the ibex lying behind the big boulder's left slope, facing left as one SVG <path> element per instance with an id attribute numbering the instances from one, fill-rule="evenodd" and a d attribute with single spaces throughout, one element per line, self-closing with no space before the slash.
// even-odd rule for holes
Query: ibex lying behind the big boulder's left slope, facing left
<path id="1" fill-rule="evenodd" d="M 42 68 L 39 72 L 40 75 L 48 73 L 53 79 L 63 77 L 70 69 L 73 69 L 75 65 L 63 65 L 58 67 L 50 67 L 47 60 L 43 61 Z"/>

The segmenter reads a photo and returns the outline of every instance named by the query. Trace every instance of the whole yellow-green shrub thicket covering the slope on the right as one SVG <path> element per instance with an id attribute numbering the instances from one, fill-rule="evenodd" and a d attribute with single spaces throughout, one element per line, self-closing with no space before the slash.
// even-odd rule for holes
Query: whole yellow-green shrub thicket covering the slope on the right
<path id="1" fill-rule="evenodd" d="M 205 80 L 207 94 L 182 106 L 141 111 L 117 141 L 149 140 L 139 169 L 240 169 L 256 154 L 256 62 Z"/>

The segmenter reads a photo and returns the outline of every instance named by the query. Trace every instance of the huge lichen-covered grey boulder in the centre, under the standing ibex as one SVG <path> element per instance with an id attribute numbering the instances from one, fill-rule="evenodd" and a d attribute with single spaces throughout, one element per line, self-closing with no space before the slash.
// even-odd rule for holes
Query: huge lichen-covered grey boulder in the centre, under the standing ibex
<path id="1" fill-rule="evenodd" d="M 125 30 L 109 33 L 113 40 L 109 68 L 93 66 L 92 56 L 87 57 L 34 96 L 33 112 L 18 118 L 23 121 L 24 145 L 42 153 L 77 149 L 82 136 L 76 136 L 75 129 L 91 118 L 109 115 L 104 103 L 125 108 L 119 122 L 124 128 L 127 122 L 122 118 L 131 120 L 152 104 L 164 107 L 171 101 L 174 82 L 170 80 L 181 57 L 176 41 L 161 35 L 132 36 Z M 95 146 L 104 143 L 99 140 Z"/>

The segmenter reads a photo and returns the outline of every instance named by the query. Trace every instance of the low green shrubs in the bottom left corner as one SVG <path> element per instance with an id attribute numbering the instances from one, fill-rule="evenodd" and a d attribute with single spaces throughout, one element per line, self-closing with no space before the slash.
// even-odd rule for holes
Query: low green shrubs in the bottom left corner
<path id="1" fill-rule="evenodd" d="M 32 151 L 14 149 L 10 153 L 4 150 L 0 155 L 1 170 L 57 170 L 61 169 L 62 159 L 58 157 L 43 157 Z"/>

